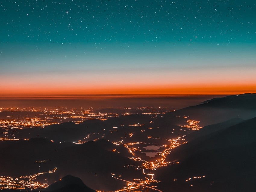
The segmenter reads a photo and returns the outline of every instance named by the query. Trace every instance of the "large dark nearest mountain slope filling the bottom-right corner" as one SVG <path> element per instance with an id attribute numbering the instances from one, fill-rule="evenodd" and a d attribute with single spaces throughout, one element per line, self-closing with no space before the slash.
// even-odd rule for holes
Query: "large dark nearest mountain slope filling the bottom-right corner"
<path id="1" fill-rule="evenodd" d="M 170 183 L 173 191 L 256 191 L 255 150 L 256 118 L 195 139 L 170 153 L 180 163 L 158 170 L 159 189 Z"/>

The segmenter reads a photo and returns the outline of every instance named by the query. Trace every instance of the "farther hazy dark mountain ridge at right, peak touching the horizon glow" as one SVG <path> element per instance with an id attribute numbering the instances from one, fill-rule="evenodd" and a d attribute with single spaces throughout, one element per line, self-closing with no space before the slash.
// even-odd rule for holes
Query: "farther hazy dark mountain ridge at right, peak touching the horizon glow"
<path id="1" fill-rule="evenodd" d="M 233 118 L 250 119 L 256 116 L 256 94 L 214 98 L 196 106 L 169 112 L 162 121 L 172 121 L 177 125 L 184 125 L 186 119 L 177 119 L 179 116 L 187 116 L 189 119 L 200 121 L 201 126 L 216 124 Z"/>

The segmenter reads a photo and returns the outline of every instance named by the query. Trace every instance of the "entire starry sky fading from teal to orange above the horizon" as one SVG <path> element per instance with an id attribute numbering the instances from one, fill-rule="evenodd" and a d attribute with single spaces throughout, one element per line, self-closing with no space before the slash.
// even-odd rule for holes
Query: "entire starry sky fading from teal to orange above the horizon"
<path id="1" fill-rule="evenodd" d="M 254 0 L 0 2 L 1 95 L 256 92 Z"/>

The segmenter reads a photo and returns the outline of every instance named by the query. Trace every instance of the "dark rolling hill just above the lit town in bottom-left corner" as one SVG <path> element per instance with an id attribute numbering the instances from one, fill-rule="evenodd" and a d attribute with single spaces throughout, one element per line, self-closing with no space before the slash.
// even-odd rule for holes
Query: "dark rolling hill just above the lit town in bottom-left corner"
<path id="1" fill-rule="evenodd" d="M 115 147 L 108 141 L 101 142 L 107 147 Z M 55 173 L 40 175 L 37 181 L 45 182 L 47 179 L 48 183 L 53 183 L 63 175 L 70 174 L 88 182 L 91 188 L 108 191 L 123 187 L 123 182 L 113 179 L 111 173 L 122 175 L 127 180 L 131 180 L 134 175 L 143 178 L 142 172 L 136 169 L 142 166 L 142 162 L 122 156 L 121 151 L 118 153 L 119 148 L 112 151 L 101 145 L 94 141 L 84 144 L 58 143 L 43 138 L 0 141 L 0 175 L 16 178 L 48 172 L 57 167 Z"/>

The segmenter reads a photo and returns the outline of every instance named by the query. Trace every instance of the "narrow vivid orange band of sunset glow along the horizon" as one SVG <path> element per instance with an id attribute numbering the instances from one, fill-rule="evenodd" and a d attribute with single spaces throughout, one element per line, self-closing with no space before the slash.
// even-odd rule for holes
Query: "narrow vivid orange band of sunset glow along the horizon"
<path id="1" fill-rule="evenodd" d="M 70 95 L 202 95 L 202 94 L 242 94 L 255 93 L 256 85 L 161 85 L 161 86 L 112 86 L 111 87 L 73 87 L 73 88 L 56 88 L 54 86 L 37 87 L 12 87 L 1 88 L 0 97 L 37 97 L 56 95 L 69 97 Z"/>

